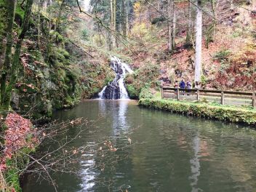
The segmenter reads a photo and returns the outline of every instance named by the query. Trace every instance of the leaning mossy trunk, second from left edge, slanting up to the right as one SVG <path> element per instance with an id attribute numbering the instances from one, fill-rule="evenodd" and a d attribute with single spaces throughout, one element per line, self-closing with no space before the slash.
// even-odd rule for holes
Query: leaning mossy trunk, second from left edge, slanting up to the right
<path id="1" fill-rule="evenodd" d="M 23 26 L 15 47 L 15 55 L 13 56 L 13 59 L 12 59 L 12 68 L 11 68 L 12 75 L 10 77 L 9 84 L 5 89 L 4 97 L 1 105 L 1 109 L 3 109 L 4 111 L 9 110 L 12 89 L 15 87 L 15 84 L 17 81 L 17 73 L 18 73 L 18 68 L 20 63 L 20 51 L 21 51 L 21 46 L 23 44 L 23 39 L 25 38 L 25 34 L 28 31 L 28 24 L 31 17 L 32 4 L 33 4 L 33 0 L 28 0 L 25 7 L 25 16 L 23 20 Z"/>

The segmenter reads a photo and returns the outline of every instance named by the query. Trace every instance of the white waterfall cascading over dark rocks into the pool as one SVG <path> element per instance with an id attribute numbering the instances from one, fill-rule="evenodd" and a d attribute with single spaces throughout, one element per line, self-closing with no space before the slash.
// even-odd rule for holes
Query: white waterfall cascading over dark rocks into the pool
<path id="1" fill-rule="evenodd" d="M 99 93 L 99 98 L 108 100 L 129 99 L 127 89 L 124 87 L 124 77 L 126 73 L 132 73 L 132 69 L 117 57 L 111 57 L 111 68 L 115 71 L 116 77 L 103 88 Z"/>

